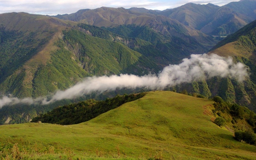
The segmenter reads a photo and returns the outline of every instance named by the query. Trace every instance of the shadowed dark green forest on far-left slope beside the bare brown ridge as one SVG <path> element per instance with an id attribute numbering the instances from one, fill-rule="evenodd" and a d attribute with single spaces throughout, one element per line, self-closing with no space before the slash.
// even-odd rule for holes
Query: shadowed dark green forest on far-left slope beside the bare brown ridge
<path id="1" fill-rule="evenodd" d="M 12 75 L 15 70 L 24 65 L 32 58 L 49 40 L 47 38 L 39 39 L 36 33 L 25 34 L 17 31 L 5 31 L 0 28 L 0 84 Z"/>

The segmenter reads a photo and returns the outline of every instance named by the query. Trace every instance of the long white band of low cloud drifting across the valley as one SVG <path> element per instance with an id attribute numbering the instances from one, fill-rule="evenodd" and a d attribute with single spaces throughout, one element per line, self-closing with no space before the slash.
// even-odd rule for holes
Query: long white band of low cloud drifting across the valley
<path id="1" fill-rule="evenodd" d="M 248 77 L 248 68 L 243 63 L 234 63 L 231 57 L 225 58 L 216 54 L 191 54 L 180 64 L 169 65 L 162 71 L 145 76 L 121 74 L 119 76 L 93 76 L 87 77 L 65 91 L 57 91 L 50 98 L 39 97 L 36 99 L 4 96 L 0 99 L 0 108 L 5 105 L 17 103 L 42 105 L 50 104 L 57 100 L 73 99 L 92 92 L 113 91 L 117 88 L 147 88 L 151 90 L 163 90 L 165 87 L 175 86 L 181 83 L 200 81 L 214 76 L 230 77 L 242 83 Z"/>

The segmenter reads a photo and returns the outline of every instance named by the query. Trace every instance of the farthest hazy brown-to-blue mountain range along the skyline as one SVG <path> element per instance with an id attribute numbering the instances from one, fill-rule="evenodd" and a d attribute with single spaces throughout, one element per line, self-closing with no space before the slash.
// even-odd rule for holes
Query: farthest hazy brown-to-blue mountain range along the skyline
<path id="1" fill-rule="evenodd" d="M 164 34 L 172 31 L 168 30 L 168 26 L 163 22 L 168 21 L 176 28 L 180 28 L 181 25 L 175 21 L 178 20 L 185 25 L 183 28 L 187 30 L 186 34 L 196 38 L 198 34 L 202 34 L 198 31 L 217 37 L 234 33 L 256 19 L 255 11 L 255 0 L 241 0 L 221 7 L 214 4 L 188 3 L 164 11 L 147 10 L 145 8 L 101 7 L 94 10 L 79 10 L 76 13 L 57 15 L 55 17 L 98 27 L 116 27 L 128 24 L 147 25 Z M 204 42 L 209 43 L 206 39 L 201 40 L 201 43 Z"/>

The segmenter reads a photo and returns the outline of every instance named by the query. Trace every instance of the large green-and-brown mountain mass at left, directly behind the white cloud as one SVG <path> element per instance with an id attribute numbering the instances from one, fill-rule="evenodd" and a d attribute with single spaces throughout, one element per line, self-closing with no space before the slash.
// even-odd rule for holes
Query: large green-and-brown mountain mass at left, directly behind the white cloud
<path id="1" fill-rule="evenodd" d="M 10 98 L 51 95 L 88 76 L 158 73 L 191 53 L 208 50 L 179 29 L 175 32 L 183 37 L 147 26 L 99 28 L 22 12 L 1 14 L 0 24 L 0 94 Z M 26 122 L 63 103 L 1 104 L 1 123 Z"/>

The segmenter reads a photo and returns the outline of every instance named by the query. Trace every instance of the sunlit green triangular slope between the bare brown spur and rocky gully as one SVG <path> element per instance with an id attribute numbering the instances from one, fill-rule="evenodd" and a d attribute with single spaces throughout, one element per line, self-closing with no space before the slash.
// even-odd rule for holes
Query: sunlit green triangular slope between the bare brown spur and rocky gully
<path id="1" fill-rule="evenodd" d="M 82 78 L 91 76 L 77 64 L 72 52 L 65 50 L 61 42 L 56 45 L 61 49 L 53 52 L 51 61 L 46 66 L 40 65 L 35 73 L 33 97 L 48 95 L 56 90 L 65 90 Z"/>

